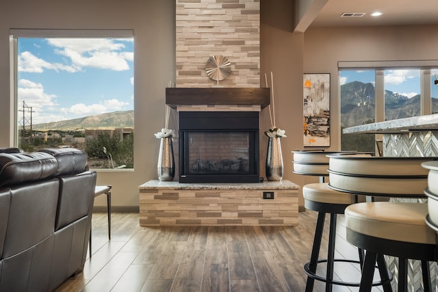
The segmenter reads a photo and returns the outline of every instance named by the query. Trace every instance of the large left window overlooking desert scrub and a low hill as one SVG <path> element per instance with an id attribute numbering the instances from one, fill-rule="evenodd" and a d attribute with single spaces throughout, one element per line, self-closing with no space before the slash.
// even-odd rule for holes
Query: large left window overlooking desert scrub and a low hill
<path id="1" fill-rule="evenodd" d="M 13 36 L 16 145 L 74 147 L 92 169 L 133 168 L 132 34 L 69 33 Z"/>

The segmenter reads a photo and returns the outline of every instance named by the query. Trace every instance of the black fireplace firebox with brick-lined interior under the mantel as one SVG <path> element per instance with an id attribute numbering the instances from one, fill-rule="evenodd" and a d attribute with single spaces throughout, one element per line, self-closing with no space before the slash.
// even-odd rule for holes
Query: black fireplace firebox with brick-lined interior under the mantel
<path id="1" fill-rule="evenodd" d="M 258 111 L 180 111 L 180 183 L 259 183 Z"/>

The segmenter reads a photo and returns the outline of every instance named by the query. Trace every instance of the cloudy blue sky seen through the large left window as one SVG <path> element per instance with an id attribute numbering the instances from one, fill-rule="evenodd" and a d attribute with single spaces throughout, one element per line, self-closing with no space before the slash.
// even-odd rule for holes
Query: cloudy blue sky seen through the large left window
<path id="1" fill-rule="evenodd" d="M 23 101 L 34 124 L 133 109 L 133 38 L 19 38 Z"/>

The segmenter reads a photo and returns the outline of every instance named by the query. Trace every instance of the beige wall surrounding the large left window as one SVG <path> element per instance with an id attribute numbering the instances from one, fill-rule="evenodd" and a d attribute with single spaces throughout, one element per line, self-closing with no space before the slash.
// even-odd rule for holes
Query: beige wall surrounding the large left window
<path id="1" fill-rule="evenodd" d="M 175 80 L 175 0 L 0 1 L 0 147 L 10 146 L 9 30 L 133 29 L 136 77 L 133 172 L 99 172 L 98 184 L 112 184 L 113 206 L 138 206 L 138 185 L 157 178 L 164 127 L 165 88 Z M 105 205 L 105 196 L 95 205 Z"/>

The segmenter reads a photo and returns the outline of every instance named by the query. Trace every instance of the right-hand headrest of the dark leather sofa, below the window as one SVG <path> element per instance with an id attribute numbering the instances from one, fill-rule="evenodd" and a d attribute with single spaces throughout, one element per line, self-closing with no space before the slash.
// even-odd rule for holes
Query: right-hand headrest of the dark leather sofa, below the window
<path id="1" fill-rule="evenodd" d="M 56 176 L 79 174 L 86 170 L 88 155 L 77 148 L 46 148 L 38 152 L 49 153 L 57 160 Z"/>

